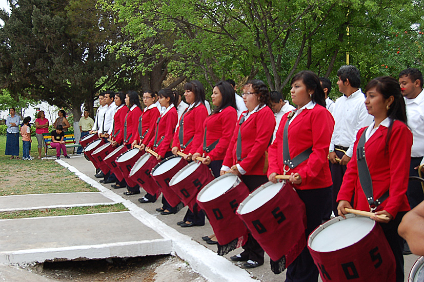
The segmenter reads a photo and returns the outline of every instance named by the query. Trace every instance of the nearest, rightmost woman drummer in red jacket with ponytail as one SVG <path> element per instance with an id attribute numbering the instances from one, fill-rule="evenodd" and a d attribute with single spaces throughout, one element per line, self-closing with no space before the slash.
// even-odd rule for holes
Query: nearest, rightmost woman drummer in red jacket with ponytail
<path id="1" fill-rule="evenodd" d="M 347 213 L 345 208 L 352 208 L 353 196 L 355 209 L 370 211 L 372 208 L 376 214 L 387 216 L 386 220 L 372 218 L 380 223 L 386 235 L 396 260 L 396 281 L 400 282 L 404 278 L 403 239 L 397 228 L 410 209 L 406 196 L 409 178 L 406 164 L 411 158 L 412 133 L 406 125 L 405 100 L 396 79 L 377 77 L 368 83 L 365 93 L 365 105 L 368 113 L 374 116 L 374 122 L 358 131 L 353 151 L 357 152 L 359 140 L 364 135 L 365 159 L 372 186 L 365 189 L 361 186 L 357 154 L 353 154 L 337 196 L 337 210 L 344 216 Z M 368 200 L 366 194 L 372 198 Z M 378 205 L 377 200 L 381 204 Z"/>

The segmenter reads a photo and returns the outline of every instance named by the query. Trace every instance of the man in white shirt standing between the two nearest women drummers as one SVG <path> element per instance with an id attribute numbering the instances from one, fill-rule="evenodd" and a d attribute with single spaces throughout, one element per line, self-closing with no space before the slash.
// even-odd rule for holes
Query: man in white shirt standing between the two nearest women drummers
<path id="1" fill-rule="evenodd" d="M 354 66 L 342 66 L 337 71 L 337 76 L 338 89 L 343 95 L 337 98 L 332 112 L 335 124 L 328 154 L 331 162 L 332 206 L 335 215 L 338 214 L 337 194 L 346 172 L 346 165 L 353 154 L 356 133 L 373 121 L 373 117 L 368 114 L 365 107 L 365 95 L 359 88 L 361 84 L 359 70 Z"/>

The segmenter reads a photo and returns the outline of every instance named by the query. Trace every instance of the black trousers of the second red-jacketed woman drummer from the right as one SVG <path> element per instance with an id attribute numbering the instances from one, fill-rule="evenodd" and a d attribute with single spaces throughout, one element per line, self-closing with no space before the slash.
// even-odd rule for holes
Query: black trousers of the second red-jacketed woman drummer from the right
<path id="1" fill-rule="evenodd" d="M 308 239 L 309 234 L 322 223 L 322 218 L 328 212 L 326 208 L 326 199 L 331 195 L 331 187 L 296 190 L 300 199 L 305 203 L 307 227 L 305 236 Z M 312 282 L 318 281 L 318 268 L 314 264 L 308 247 L 297 256 L 291 265 L 287 267 L 286 282 Z"/>

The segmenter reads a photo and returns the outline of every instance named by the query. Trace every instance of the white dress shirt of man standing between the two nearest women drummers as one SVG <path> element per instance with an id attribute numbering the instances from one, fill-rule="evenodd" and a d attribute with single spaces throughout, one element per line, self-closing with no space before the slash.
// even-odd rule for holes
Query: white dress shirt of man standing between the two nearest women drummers
<path id="1" fill-rule="evenodd" d="M 373 116 L 368 114 L 365 107 L 365 95 L 360 89 L 353 92 L 349 97 L 345 95 L 338 97 L 334 104 L 332 114 L 335 124 L 330 151 L 334 151 L 334 146 L 349 147 L 346 155 L 352 157 L 356 133 L 362 127 L 371 124 Z"/>

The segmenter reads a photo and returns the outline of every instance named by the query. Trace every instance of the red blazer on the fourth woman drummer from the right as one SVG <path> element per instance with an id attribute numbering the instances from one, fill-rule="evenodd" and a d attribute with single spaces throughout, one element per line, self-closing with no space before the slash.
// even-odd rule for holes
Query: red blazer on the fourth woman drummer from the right
<path id="1" fill-rule="evenodd" d="M 218 113 L 208 116 L 203 123 L 203 139 L 196 152 L 200 154 L 205 153 L 205 156 L 209 156 L 211 160 L 224 159 L 236 124 L 237 111 L 233 107 L 227 107 Z M 209 153 L 203 151 L 205 127 L 207 129 L 206 146 L 211 145 L 219 139 L 218 144 Z"/>

